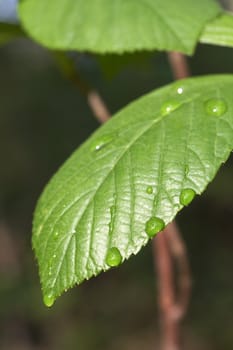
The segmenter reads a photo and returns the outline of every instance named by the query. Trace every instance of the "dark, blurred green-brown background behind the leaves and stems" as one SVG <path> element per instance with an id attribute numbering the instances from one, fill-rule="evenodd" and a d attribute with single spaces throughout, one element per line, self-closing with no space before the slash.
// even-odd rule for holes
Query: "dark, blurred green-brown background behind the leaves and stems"
<path id="1" fill-rule="evenodd" d="M 165 54 L 72 54 L 111 113 L 172 81 Z M 193 75 L 233 73 L 233 50 L 199 46 Z M 120 268 L 42 303 L 31 222 L 51 175 L 98 123 L 51 54 L 26 39 L 0 47 L 0 349 L 152 350 L 159 341 L 151 245 Z M 178 218 L 193 293 L 184 349 L 233 349 L 233 157 Z"/>

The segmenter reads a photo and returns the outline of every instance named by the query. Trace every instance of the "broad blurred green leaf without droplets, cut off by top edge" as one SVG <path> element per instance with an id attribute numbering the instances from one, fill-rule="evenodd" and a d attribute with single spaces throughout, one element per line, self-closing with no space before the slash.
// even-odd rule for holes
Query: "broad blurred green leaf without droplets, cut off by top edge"
<path id="1" fill-rule="evenodd" d="M 205 23 L 221 13 L 215 0 L 22 0 L 25 30 L 52 49 L 191 54 Z"/>

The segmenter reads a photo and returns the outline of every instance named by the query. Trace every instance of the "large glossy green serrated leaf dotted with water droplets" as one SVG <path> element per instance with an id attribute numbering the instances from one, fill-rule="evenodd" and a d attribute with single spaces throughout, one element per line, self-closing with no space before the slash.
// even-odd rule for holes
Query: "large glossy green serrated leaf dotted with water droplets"
<path id="1" fill-rule="evenodd" d="M 35 211 L 45 303 L 136 254 L 204 191 L 232 148 L 233 75 L 170 84 L 101 126 Z"/>

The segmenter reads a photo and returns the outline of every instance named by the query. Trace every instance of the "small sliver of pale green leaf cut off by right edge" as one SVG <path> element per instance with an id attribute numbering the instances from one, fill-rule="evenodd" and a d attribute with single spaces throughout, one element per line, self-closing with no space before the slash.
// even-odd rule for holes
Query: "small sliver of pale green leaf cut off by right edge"
<path id="1" fill-rule="evenodd" d="M 233 47 L 233 15 L 224 13 L 209 22 L 201 35 L 200 42 Z"/>

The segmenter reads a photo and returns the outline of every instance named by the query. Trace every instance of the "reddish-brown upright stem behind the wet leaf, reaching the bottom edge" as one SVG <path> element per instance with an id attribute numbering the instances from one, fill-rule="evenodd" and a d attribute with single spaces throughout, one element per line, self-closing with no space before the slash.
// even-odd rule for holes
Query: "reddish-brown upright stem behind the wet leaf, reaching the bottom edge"
<path id="1" fill-rule="evenodd" d="M 190 75 L 186 58 L 182 54 L 170 52 L 168 60 L 174 79 Z M 161 350 L 180 350 L 181 321 L 189 304 L 191 275 L 186 247 L 175 222 L 170 223 L 163 233 L 153 240 L 153 255 L 158 273 Z M 175 277 L 177 277 L 177 289 Z"/>

